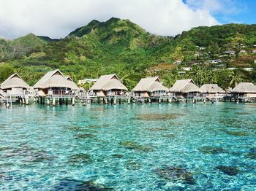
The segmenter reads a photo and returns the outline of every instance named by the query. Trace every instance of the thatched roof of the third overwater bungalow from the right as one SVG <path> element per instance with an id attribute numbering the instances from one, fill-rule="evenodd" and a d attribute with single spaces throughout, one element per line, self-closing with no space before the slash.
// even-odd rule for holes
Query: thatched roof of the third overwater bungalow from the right
<path id="1" fill-rule="evenodd" d="M 170 87 L 170 92 L 176 93 L 190 93 L 200 92 L 200 88 L 195 85 L 193 79 L 177 80 L 173 87 Z"/>

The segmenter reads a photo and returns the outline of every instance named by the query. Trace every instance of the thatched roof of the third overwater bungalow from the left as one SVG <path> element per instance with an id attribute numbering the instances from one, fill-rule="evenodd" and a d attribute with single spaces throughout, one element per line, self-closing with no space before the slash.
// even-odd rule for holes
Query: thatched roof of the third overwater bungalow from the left
<path id="1" fill-rule="evenodd" d="M 109 74 L 109 75 L 102 75 L 99 77 L 97 82 L 94 83 L 94 85 L 90 88 L 90 90 L 128 90 L 127 87 L 125 87 L 116 74 Z"/>

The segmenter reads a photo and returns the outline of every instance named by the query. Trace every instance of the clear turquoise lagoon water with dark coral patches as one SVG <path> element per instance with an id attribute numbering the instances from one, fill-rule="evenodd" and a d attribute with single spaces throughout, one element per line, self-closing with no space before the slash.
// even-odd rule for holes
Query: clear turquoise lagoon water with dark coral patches
<path id="1" fill-rule="evenodd" d="M 255 190 L 256 104 L 0 107 L 0 190 Z"/>

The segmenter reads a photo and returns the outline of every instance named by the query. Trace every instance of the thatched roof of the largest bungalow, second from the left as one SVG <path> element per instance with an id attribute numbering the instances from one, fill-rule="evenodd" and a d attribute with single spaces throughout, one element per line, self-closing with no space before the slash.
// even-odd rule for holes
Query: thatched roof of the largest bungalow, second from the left
<path id="1" fill-rule="evenodd" d="M 34 85 L 34 88 L 45 89 L 50 87 L 67 87 L 71 90 L 78 90 L 78 86 L 74 82 L 68 80 L 59 71 L 59 69 L 54 71 L 48 71 L 39 81 Z"/>

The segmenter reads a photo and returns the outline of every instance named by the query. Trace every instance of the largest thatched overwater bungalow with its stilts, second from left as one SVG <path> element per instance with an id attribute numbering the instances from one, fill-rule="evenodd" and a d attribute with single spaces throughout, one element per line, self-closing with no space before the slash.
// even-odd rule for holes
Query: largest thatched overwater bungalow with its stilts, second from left
<path id="1" fill-rule="evenodd" d="M 48 98 L 48 104 L 50 104 L 49 98 L 53 98 L 53 105 L 55 105 L 55 98 L 59 98 L 60 102 L 62 98 L 72 98 L 72 104 L 75 104 L 75 95 L 79 87 L 75 85 L 70 77 L 67 79 L 67 77 L 64 77 L 61 71 L 57 69 L 49 71 L 45 76 L 39 79 L 34 85 L 34 89 L 37 90 L 39 98 Z"/>

